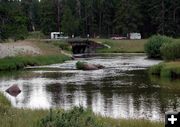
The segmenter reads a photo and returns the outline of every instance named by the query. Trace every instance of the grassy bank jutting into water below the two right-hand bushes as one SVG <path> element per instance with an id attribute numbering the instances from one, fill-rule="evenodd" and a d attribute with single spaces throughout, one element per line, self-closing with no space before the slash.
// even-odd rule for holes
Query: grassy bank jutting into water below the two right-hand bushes
<path id="1" fill-rule="evenodd" d="M 164 78 L 180 78 L 180 61 L 164 62 L 154 65 L 149 69 L 149 73 Z"/>

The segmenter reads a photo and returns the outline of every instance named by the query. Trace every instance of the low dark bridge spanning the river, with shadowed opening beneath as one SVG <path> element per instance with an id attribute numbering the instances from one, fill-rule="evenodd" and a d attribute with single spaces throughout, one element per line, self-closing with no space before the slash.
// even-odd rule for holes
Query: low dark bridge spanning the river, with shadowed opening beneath
<path id="1" fill-rule="evenodd" d="M 103 48 L 105 45 L 89 39 L 68 39 L 67 42 L 72 46 L 73 54 L 91 54 L 96 49 Z"/>

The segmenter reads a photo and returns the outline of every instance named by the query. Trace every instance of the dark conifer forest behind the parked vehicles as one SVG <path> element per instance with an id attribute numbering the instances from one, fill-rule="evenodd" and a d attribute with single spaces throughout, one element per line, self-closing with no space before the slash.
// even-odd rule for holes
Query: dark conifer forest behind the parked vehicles
<path id="1" fill-rule="evenodd" d="M 62 31 L 85 37 L 180 36 L 179 0 L 0 0 L 0 38 Z"/>

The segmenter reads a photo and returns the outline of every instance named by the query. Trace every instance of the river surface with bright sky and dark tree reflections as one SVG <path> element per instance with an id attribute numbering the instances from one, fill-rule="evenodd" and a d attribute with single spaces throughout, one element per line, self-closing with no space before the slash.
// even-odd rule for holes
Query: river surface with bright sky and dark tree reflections
<path id="1" fill-rule="evenodd" d="M 69 109 L 82 105 L 114 118 L 151 120 L 163 120 L 165 111 L 179 110 L 180 89 L 173 90 L 168 82 L 163 85 L 146 72 L 147 67 L 160 61 L 133 55 L 81 60 L 106 68 L 79 71 L 75 69 L 76 61 L 43 66 L 47 69 L 1 75 L 0 90 L 18 84 L 20 95 L 16 98 L 5 95 L 13 106 L 23 108 Z"/>

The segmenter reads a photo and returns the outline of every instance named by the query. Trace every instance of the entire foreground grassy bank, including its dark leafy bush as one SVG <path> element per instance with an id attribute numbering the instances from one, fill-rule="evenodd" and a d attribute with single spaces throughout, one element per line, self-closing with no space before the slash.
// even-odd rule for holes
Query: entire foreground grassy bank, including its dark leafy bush
<path id="1" fill-rule="evenodd" d="M 0 94 L 0 126 L 2 127 L 163 127 L 163 122 L 148 120 L 123 120 L 94 115 L 91 110 L 74 108 L 70 111 L 16 109 Z"/>

